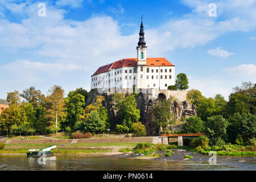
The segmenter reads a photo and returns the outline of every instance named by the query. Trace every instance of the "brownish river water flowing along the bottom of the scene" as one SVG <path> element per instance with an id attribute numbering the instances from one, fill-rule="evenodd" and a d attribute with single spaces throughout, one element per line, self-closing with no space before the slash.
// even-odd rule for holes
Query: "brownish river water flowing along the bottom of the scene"
<path id="1" fill-rule="evenodd" d="M 209 158 L 205 156 L 205 159 Z M 219 162 L 218 162 L 219 161 Z M 164 159 L 134 159 L 134 156 L 48 156 L 46 164 L 39 164 L 38 158 L 25 155 L 0 155 L 2 170 L 51 170 L 51 171 L 115 171 L 115 170 L 256 170 L 255 158 L 221 158 L 216 165 L 208 161 L 164 161 Z"/>

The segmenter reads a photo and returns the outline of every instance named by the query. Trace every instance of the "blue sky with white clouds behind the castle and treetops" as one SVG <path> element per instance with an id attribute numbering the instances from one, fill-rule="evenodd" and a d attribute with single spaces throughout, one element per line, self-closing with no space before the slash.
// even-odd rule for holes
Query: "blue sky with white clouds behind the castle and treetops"
<path id="1" fill-rule="evenodd" d="M 30 86 L 89 91 L 98 67 L 137 57 L 141 15 L 147 57 L 166 57 L 189 89 L 228 100 L 256 82 L 256 0 L 1 0 L 0 98 Z"/>

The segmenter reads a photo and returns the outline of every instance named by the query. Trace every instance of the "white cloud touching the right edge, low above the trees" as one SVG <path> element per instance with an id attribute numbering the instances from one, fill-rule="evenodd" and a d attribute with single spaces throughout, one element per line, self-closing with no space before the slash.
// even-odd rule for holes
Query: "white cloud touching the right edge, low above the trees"
<path id="1" fill-rule="evenodd" d="M 237 67 L 225 68 L 224 71 L 229 75 L 243 76 L 256 81 L 256 65 L 254 64 L 241 64 Z"/>

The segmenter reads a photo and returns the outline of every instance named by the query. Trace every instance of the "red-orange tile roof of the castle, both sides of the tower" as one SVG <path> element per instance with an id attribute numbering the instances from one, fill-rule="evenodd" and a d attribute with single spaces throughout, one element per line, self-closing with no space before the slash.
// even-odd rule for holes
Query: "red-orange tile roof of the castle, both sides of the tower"
<path id="1" fill-rule="evenodd" d="M 174 67 L 174 65 L 171 64 L 164 57 L 148 57 L 147 58 L 147 67 L 164 67 L 164 66 Z M 117 69 L 121 67 L 137 67 L 137 58 L 122 59 L 119 61 L 115 61 L 114 63 L 104 65 L 103 67 L 98 68 L 93 75 L 98 75 L 100 73 L 108 72 L 110 71 L 110 69 Z"/>

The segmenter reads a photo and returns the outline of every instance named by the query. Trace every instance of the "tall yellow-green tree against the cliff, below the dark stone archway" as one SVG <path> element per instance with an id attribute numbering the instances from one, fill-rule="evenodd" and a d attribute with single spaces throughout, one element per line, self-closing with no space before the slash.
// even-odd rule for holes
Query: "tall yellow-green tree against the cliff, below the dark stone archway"
<path id="1" fill-rule="evenodd" d="M 152 117 L 156 133 L 160 130 L 166 133 L 170 125 L 175 123 L 174 114 L 171 113 L 171 101 L 158 101 L 158 104 L 153 106 Z"/>

